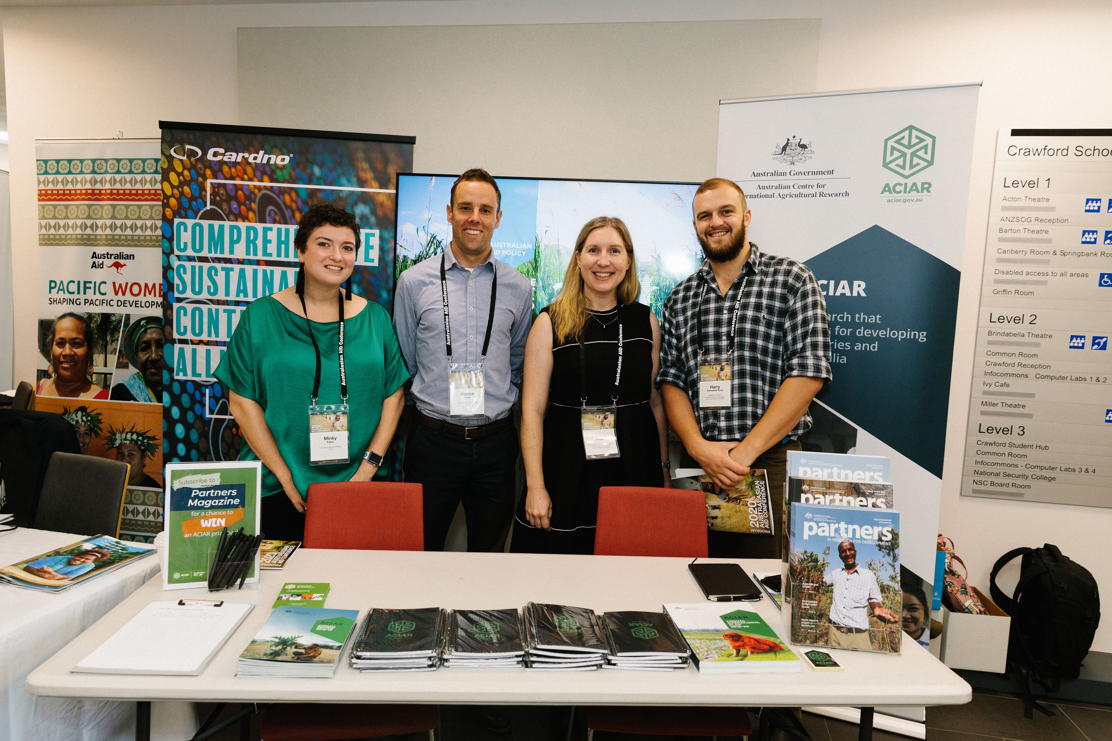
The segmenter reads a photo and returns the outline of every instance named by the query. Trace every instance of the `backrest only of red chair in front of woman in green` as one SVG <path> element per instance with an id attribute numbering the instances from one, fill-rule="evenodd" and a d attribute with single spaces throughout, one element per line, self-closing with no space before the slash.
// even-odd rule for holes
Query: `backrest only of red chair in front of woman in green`
<path id="1" fill-rule="evenodd" d="M 419 483 L 310 483 L 305 548 L 425 550 Z"/>

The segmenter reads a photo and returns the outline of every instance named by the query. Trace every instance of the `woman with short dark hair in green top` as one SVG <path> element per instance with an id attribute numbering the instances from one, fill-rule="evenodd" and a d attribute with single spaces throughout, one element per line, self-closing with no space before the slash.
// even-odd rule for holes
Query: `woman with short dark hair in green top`
<path id="1" fill-rule="evenodd" d="M 294 243 L 301 259 L 297 287 L 244 311 L 215 373 L 229 391 L 247 443 L 239 459 L 262 461 L 261 527 L 277 540 L 304 538 L 310 483 L 370 481 L 394 438 L 405 405 L 401 385 L 409 379 L 389 314 L 353 296 L 348 283 L 342 304 L 349 460 L 310 465 L 314 340 L 320 352 L 316 403 L 339 404 L 339 304 L 355 268 L 359 223 L 350 211 L 319 203 L 305 212 Z"/>

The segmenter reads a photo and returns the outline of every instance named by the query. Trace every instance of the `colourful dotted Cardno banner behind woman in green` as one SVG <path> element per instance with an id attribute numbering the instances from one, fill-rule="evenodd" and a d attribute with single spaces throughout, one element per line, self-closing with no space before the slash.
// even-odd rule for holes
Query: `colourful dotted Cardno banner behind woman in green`
<path id="1" fill-rule="evenodd" d="M 162 121 L 161 247 L 172 344 L 163 400 L 166 462 L 236 460 L 242 444 L 214 377 L 251 301 L 297 281 L 297 224 L 315 203 L 356 214 L 353 290 L 394 303 L 397 173 L 413 137 Z M 169 332 L 168 332 L 169 334 Z M 394 455 L 380 469 L 396 478 Z"/>

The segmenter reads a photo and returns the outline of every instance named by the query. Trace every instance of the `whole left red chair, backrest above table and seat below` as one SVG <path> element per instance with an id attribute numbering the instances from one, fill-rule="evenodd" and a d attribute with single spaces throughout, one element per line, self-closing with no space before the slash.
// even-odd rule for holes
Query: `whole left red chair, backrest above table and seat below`
<path id="1" fill-rule="evenodd" d="M 423 551 L 419 483 L 386 481 L 309 484 L 305 548 Z M 404 735 L 440 722 L 437 705 L 288 703 L 267 708 L 262 741 L 334 741 Z"/>

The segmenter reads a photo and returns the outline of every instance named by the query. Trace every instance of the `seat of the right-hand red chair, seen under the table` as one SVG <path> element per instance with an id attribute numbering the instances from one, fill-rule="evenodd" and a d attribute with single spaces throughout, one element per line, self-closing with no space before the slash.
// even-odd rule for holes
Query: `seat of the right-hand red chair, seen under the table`
<path id="1" fill-rule="evenodd" d="M 747 737 L 753 733 L 753 724 L 749 723 L 749 714 L 745 708 L 592 705 L 587 708 L 587 741 L 594 741 L 595 731 L 646 735 Z"/>

